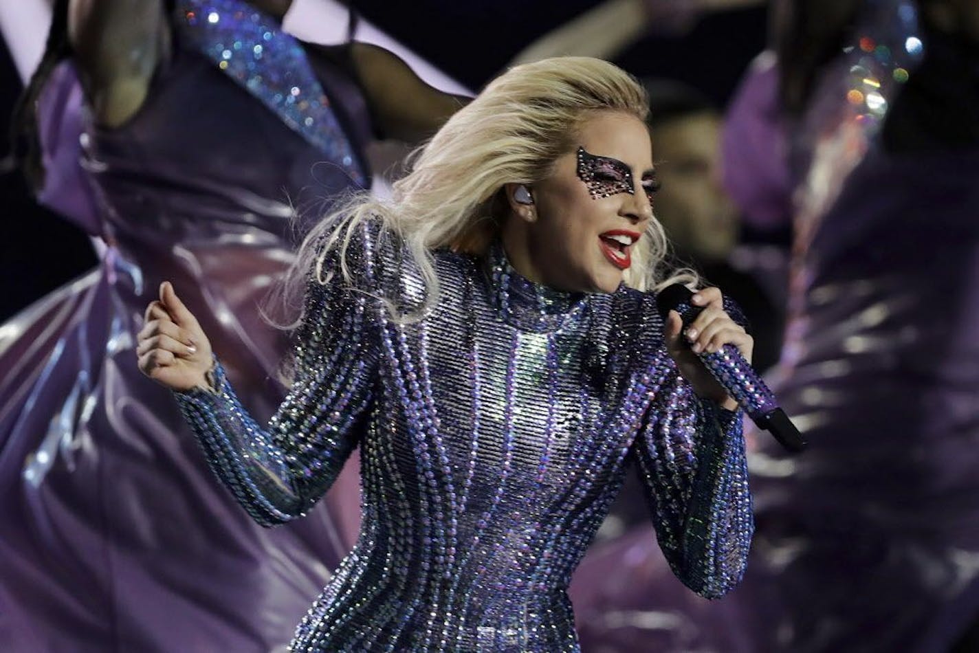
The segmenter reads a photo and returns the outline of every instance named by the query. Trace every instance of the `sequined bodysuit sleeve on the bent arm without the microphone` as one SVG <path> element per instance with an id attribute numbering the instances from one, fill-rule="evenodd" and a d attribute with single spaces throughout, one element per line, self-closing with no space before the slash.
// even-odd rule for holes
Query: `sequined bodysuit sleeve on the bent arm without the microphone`
<path id="1" fill-rule="evenodd" d="M 309 282 L 295 381 L 267 426 L 242 407 L 219 362 L 214 392 L 174 393 L 211 469 L 262 526 L 308 510 L 356 446 L 377 370 L 370 311 L 369 296 L 339 274 Z"/>

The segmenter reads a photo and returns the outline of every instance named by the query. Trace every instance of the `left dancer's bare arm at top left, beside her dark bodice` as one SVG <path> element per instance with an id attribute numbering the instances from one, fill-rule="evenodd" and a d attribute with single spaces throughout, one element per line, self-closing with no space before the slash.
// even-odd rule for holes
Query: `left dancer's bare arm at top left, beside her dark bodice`
<path id="1" fill-rule="evenodd" d="M 169 48 L 162 0 L 70 0 L 69 42 L 96 120 L 118 126 L 146 99 Z"/>

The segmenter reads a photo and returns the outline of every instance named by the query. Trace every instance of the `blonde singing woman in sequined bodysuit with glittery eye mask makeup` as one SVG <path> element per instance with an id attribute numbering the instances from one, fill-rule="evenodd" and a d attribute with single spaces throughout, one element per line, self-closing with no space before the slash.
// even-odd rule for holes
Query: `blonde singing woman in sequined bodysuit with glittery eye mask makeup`
<path id="1" fill-rule="evenodd" d="M 297 268 L 296 379 L 265 427 L 177 285 L 148 306 L 140 368 L 256 521 L 300 517 L 363 452 L 360 536 L 294 650 L 578 650 L 565 589 L 630 460 L 683 583 L 738 582 L 741 413 L 693 351 L 750 357 L 752 339 L 717 289 L 684 335 L 655 307 L 676 279 L 646 111 L 611 64 L 517 67 L 446 122 L 392 201 L 325 218 Z"/>

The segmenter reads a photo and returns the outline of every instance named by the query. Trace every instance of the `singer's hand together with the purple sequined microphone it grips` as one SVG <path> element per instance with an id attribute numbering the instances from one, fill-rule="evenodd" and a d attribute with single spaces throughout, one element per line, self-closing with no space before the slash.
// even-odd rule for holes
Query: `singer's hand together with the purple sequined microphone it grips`
<path id="1" fill-rule="evenodd" d="M 790 451 L 802 450 L 806 445 L 802 435 L 748 362 L 754 341 L 724 312 L 721 292 L 708 288 L 697 295 L 702 298 L 699 304 L 693 302 L 693 293 L 674 284 L 657 297 L 660 313 L 667 322 L 667 349 L 680 373 L 698 395 L 721 403 L 729 397 L 728 404 L 733 399 L 782 446 Z M 691 341 L 689 347 L 684 343 L 683 331 Z M 693 356 L 700 364 L 693 363 Z"/>

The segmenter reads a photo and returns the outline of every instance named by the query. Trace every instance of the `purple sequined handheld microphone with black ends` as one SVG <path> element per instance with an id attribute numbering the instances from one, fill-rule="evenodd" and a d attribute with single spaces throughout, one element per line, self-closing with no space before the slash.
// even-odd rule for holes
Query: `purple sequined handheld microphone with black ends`
<path id="1" fill-rule="evenodd" d="M 671 310 L 676 310 L 685 329 L 703 310 L 701 306 L 691 303 L 692 298 L 693 293 L 686 287 L 674 284 L 663 289 L 656 298 L 656 305 L 664 320 Z M 719 351 L 701 351 L 697 356 L 727 394 L 744 408 L 758 428 L 768 431 L 789 451 L 801 451 L 806 446 L 799 429 L 792 424 L 785 411 L 778 407 L 769 387 L 736 347 L 724 345 Z"/>

